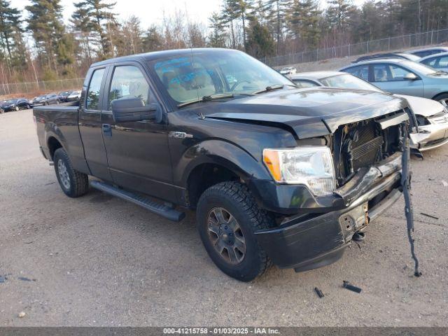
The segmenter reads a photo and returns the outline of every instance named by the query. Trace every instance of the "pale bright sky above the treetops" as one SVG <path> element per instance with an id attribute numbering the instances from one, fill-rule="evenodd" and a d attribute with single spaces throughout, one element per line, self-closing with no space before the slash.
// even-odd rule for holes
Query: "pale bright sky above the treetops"
<path id="1" fill-rule="evenodd" d="M 364 1 L 354 0 L 353 3 L 360 5 Z M 116 0 L 116 2 L 115 13 L 119 19 L 125 20 L 131 15 L 136 15 L 140 18 L 142 27 L 158 25 L 162 23 L 164 11 L 169 16 L 176 10 L 186 11 L 191 21 L 208 25 L 211 13 L 218 11 L 222 3 L 221 0 Z M 23 10 L 29 1 L 12 0 L 11 3 Z M 68 22 L 74 10 L 73 0 L 61 0 L 61 4 L 64 7 L 64 20 Z M 321 6 L 325 7 L 325 0 L 321 0 Z"/>

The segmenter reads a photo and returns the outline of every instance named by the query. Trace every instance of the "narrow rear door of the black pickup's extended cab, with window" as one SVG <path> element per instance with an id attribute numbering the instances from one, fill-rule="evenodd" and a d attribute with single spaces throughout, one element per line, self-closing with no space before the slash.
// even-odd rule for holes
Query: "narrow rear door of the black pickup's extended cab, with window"
<path id="1" fill-rule="evenodd" d="M 105 67 L 90 69 L 87 73 L 83 87 L 85 99 L 80 100 L 78 126 L 90 172 L 99 179 L 111 181 L 102 137 L 102 99 L 99 98 L 106 75 Z"/>

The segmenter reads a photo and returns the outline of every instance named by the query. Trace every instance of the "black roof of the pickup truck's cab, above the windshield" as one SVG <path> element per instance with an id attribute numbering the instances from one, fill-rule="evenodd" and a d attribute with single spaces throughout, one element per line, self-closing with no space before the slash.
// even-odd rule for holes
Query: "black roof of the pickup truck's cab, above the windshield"
<path id="1" fill-rule="evenodd" d="M 174 49 L 174 50 L 161 50 L 161 51 L 153 51 L 153 52 L 144 52 L 142 54 L 135 55 L 127 55 L 122 57 L 115 57 L 111 59 L 105 59 L 104 61 L 96 62 L 92 64 L 92 66 L 106 65 L 116 62 L 123 61 L 136 61 L 136 60 L 144 60 L 144 61 L 152 61 L 154 59 L 160 58 L 169 58 L 175 56 L 188 55 L 190 52 L 241 52 L 235 49 L 225 49 L 225 48 L 188 48 L 188 49 Z"/>

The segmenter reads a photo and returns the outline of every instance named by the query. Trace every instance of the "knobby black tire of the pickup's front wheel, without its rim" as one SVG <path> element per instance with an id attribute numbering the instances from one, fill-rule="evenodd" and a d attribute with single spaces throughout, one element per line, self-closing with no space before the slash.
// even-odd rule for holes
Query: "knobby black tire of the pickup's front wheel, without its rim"
<path id="1" fill-rule="evenodd" d="M 230 259 L 225 260 L 225 249 L 218 253 L 214 247 L 214 241 L 210 234 L 213 231 L 209 229 L 208 223 L 209 216 L 215 211 L 214 209 L 224 209 L 228 211 L 228 214 L 235 217 L 237 225 L 241 229 L 241 235 L 244 236 L 245 253 L 242 260 L 237 264 L 232 264 Z M 254 232 L 272 227 L 273 222 L 265 211 L 258 208 L 253 195 L 243 184 L 223 182 L 205 190 L 197 204 L 196 216 L 197 230 L 199 230 L 202 244 L 204 244 L 211 260 L 228 276 L 240 281 L 252 281 L 265 273 L 272 265 L 267 254 L 258 244 Z M 222 225 L 218 225 L 218 227 L 221 228 Z M 229 255 L 228 251 L 227 254 Z"/>

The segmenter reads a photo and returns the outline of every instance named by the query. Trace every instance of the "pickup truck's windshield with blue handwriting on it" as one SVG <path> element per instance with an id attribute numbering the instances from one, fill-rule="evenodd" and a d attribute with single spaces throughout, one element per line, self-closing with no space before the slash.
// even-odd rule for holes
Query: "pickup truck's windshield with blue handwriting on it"
<path id="1" fill-rule="evenodd" d="M 177 104 L 214 94 L 253 94 L 271 85 L 293 85 L 269 66 L 235 50 L 197 51 L 156 60 L 151 67 Z"/>

